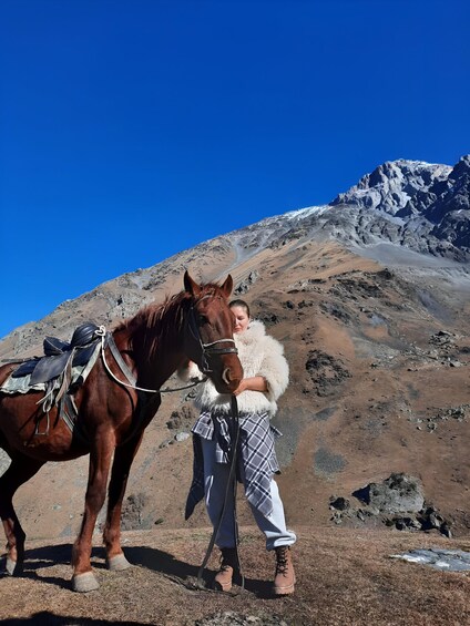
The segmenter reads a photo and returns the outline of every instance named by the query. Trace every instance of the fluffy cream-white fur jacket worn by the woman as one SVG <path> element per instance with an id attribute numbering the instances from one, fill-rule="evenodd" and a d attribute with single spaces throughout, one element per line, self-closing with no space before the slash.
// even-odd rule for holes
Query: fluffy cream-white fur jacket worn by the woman
<path id="1" fill-rule="evenodd" d="M 277 410 L 276 400 L 284 393 L 289 382 L 289 368 L 284 357 L 284 347 L 279 341 L 266 335 L 264 324 L 252 320 L 245 332 L 234 335 L 238 358 L 243 366 L 244 378 L 263 376 L 267 382 L 267 391 L 246 390 L 237 396 L 238 410 L 246 413 L 268 412 L 274 415 Z M 195 363 L 191 363 L 180 377 L 184 380 L 201 376 Z M 198 387 L 194 404 L 201 410 L 216 410 L 228 413 L 231 397 L 218 393 L 211 380 Z"/>

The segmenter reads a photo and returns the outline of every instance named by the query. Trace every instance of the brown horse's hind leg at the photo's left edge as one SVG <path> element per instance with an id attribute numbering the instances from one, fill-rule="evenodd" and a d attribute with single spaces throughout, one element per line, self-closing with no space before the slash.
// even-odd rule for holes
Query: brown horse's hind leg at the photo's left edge
<path id="1" fill-rule="evenodd" d="M 0 517 L 7 536 L 7 558 L 3 573 L 10 576 L 23 571 L 25 534 L 13 509 L 13 495 L 44 464 L 29 456 L 13 454 L 10 466 L 0 476 Z"/>

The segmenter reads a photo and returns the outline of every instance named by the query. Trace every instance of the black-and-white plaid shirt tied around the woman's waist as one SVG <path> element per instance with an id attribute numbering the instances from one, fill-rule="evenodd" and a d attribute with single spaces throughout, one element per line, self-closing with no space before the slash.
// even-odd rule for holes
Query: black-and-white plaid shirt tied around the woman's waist
<path id="1" fill-rule="evenodd" d="M 228 463 L 232 447 L 231 421 L 226 414 L 203 411 L 194 424 L 193 432 L 193 482 L 186 501 L 187 520 L 195 505 L 204 497 L 204 462 L 201 439 L 216 441 L 217 463 Z M 245 495 L 248 502 L 264 515 L 273 511 L 270 481 L 273 474 L 280 473 L 274 449 L 275 439 L 282 433 L 270 423 L 267 413 L 241 413 L 238 462 L 245 476 Z M 239 480 L 239 479 L 238 479 Z"/>

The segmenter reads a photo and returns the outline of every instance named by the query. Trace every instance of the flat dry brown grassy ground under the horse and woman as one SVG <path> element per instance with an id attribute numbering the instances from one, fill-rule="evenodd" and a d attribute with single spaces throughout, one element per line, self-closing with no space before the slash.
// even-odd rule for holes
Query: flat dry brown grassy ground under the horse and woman
<path id="1" fill-rule="evenodd" d="M 101 548 L 93 566 L 101 587 L 80 595 L 70 591 L 70 544 L 29 544 L 23 578 L 3 578 L 3 624 L 193 625 L 232 610 L 270 616 L 289 625 L 459 625 L 470 624 L 470 582 L 466 573 L 439 572 L 389 558 L 417 547 L 469 550 L 470 540 L 445 540 L 423 533 L 297 528 L 294 558 L 296 593 L 270 596 L 273 557 L 256 528 L 242 528 L 245 589 L 228 595 L 193 588 L 207 547 L 208 530 L 124 533 L 135 567 L 105 569 Z M 213 554 L 206 581 L 217 566 Z"/>

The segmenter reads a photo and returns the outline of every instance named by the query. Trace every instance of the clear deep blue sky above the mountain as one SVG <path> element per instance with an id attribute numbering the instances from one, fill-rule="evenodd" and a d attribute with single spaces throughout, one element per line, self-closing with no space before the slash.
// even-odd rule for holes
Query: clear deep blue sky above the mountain
<path id="1" fill-rule="evenodd" d="M 0 337 L 385 161 L 470 152 L 466 0 L 2 0 Z"/>

